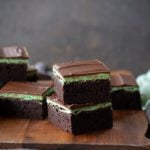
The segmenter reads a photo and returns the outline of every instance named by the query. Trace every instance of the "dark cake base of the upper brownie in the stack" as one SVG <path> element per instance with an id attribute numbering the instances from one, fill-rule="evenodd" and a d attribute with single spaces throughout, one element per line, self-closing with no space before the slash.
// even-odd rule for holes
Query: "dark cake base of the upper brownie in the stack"
<path id="1" fill-rule="evenodd" d="M 73 82 L 64 86 L 54 78 L 54 88 L 64 104 L 101 103 L 110 101 L 110 81 Z"/>

